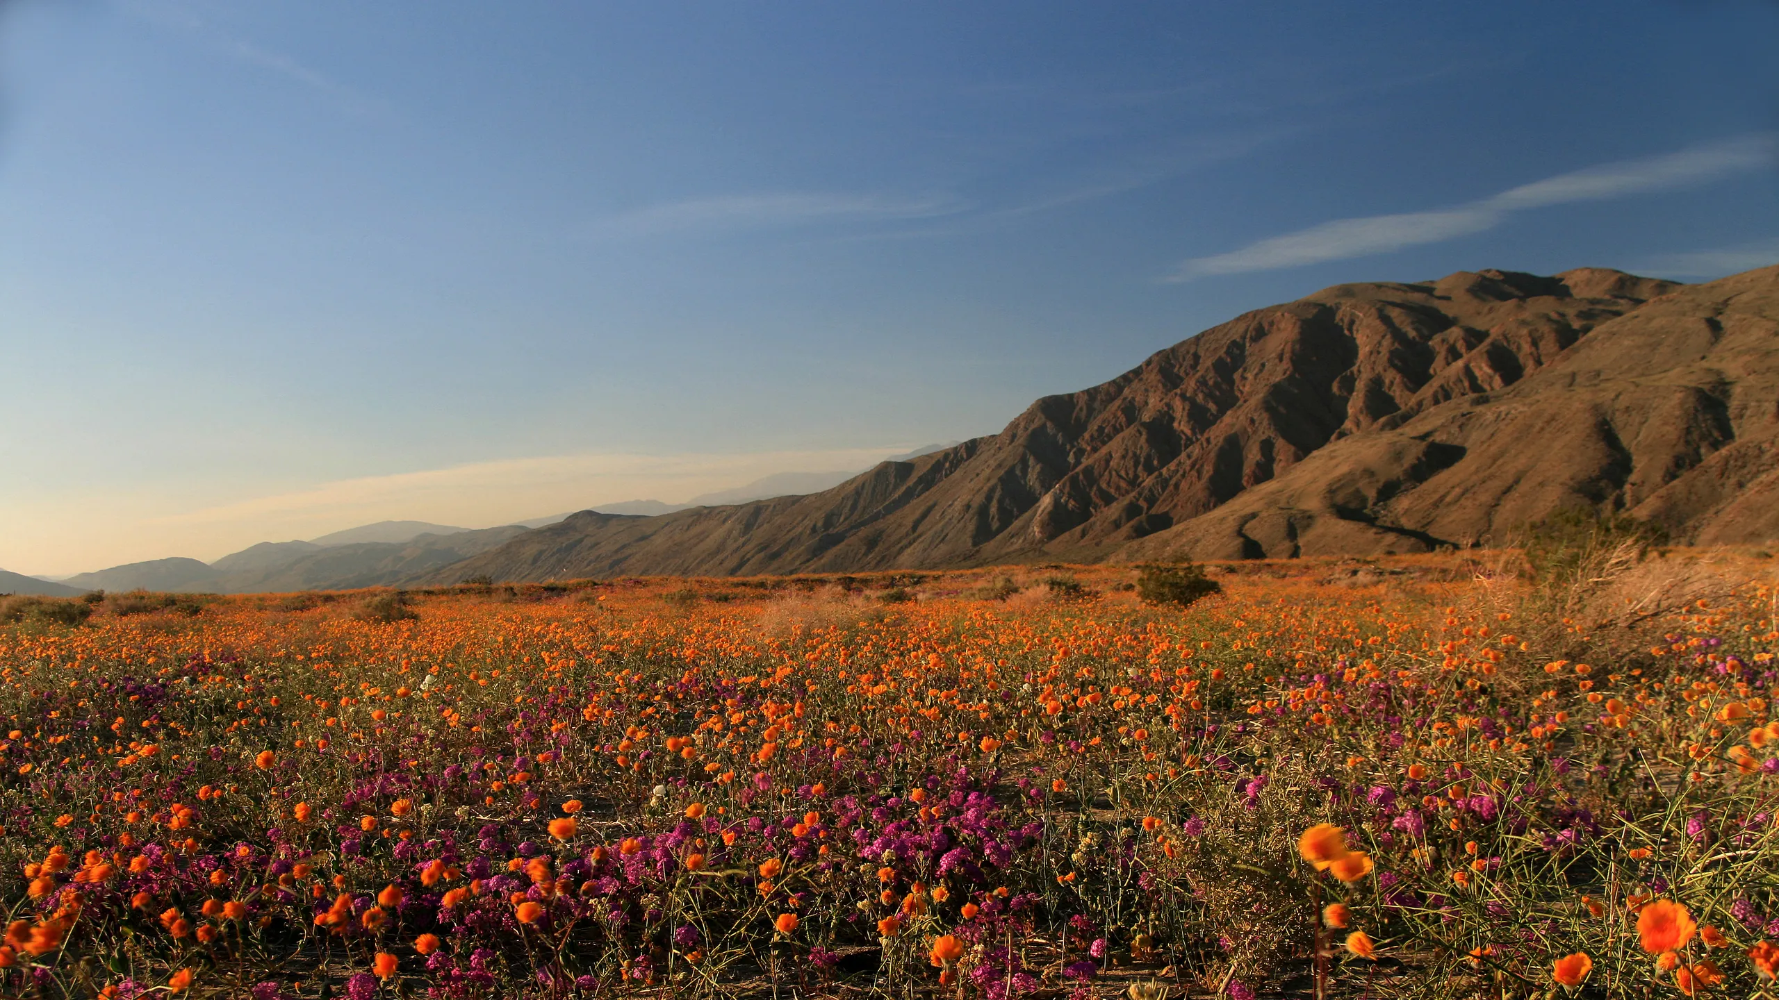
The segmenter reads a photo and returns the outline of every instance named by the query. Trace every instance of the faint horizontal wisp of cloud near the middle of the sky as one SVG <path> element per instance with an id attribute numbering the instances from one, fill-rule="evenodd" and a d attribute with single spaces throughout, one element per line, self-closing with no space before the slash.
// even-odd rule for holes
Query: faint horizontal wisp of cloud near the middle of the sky
<path id="1" fill-rule="evenodd" d="M 818 222 L 888 222 L 962 212 L 950 196 L 769 192 L 692 198 L 614 215 L 598 226 L 605 237 L 656 237 L 681 231 L 756 230 Z"/>

